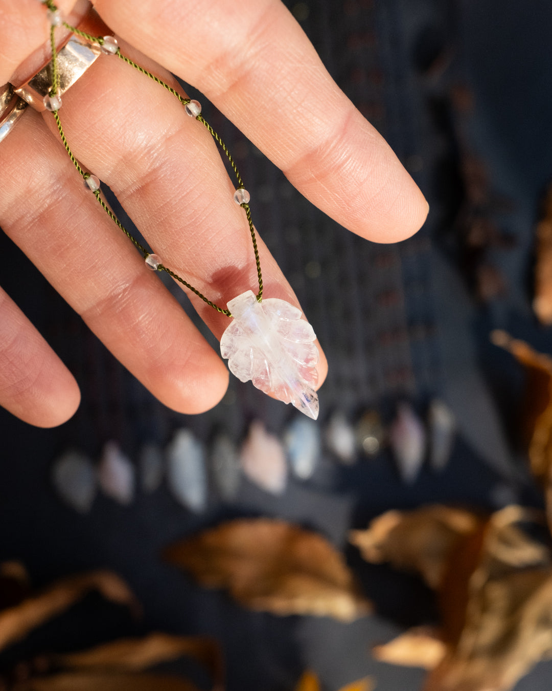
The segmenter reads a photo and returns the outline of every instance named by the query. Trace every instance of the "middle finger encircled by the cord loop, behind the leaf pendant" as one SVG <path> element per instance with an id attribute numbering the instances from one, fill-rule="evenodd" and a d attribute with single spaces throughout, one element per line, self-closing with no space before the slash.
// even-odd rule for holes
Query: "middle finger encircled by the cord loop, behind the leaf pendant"
<path id="1" fill-rule="evenodd" d="M 214 299 L 219 295 L 226 301 L 237 294 L 238 288 L 239 292 L 243 292 L 243 287 L 254 287 L 255 281 L 251 280 L 249 274 L 252 270 L 255 274 L 255 262 L 252 261 L 252 247 L 247 225 L 244 225 L 243 210 L 235 207 L 231 201 L 234 190 L 230 187 L 210 135 L 199 124 L 190 122 L 176 100 L 166 102 L 161 108 L 152 107 L 151 111 L 145 111 L 144 103 L 155 106 L 159 102 L 159 86 L 148 82 L 143 75 L 133 73 L 117 59 L 105 60 L 104 57 L 98 60 L 63 95 L 63 126 L 75 155 L 116 191 L 126 208 L 139 220 L 141 229 L 152 240 L 156 252 L 161 248 L 163 254 L 164 249 L 167 249 L 168 254 L 165 256 L 175 258 L 179 253 L 186 257 L 186 276 L 191 272 L 197 278 L 195 283 L 205 286 L 202 288 L 203 292 L 208 292 Z M 110 60 L 112 64 L 108 65 Z M 121 69 L 123 71 L 119 73 Z M 169 79 L 168 75 L 165 77 Z M 104 97 L 106 93 L 115 95 L 109 102 L 108 109 Z M 164 94 L 161 92 L 162 95 Z M 83 102 L 86 103 L 86 108 L 83 108 Z M 161 119 L 160 113 L 164 116 Z M 52 116 L 46 114 L 46 117 L 50 118 L 52 131 L 59 138 L 59 133 L 52 124 Z M 192 129 L 184 131 L 184 121 Z M 193 146 L 189 149 L 190 142 L 193 144 L 196 136 L 194 131 L 199 133 L 196 150 Z M 146 141 L 150 142 L 149 146 L 144 146 Z M 201 196 L 197 193 L 198 183 L 203 181 L 196 180 L 197 175 L 190 174 L 190 171 L 198 169 L 198 160 L 201 161 L 201 171 L 210 171 L 209 162 L 213 164 L 214 171 L 205 176 L 205 188 Z M 207 163 L 204 164 L 204 161 Z M 181 180 L 181 185 L 176 189 L 175 180 Z M 223 203 L 221 209 L 218 209 L 218 199 L 224 202 L 230 200 L 230 207 L 225 207 Z M 199 226 L 197 223 L 190 223 L 190 218 L 205 216 L 206 209 L 209 211 L 208 223 L 202 221 Z M 236 215 L 239 216 L 241 231 L 233 234 L 233 222 L 228 216 Z M 159 229 L 160 225 L 162 230 Z M 117 232 L 115 227 L 111 230 Z M 26 243 L 24 235 L 19 236 L 19 243 Z M 264 256 L 265 283 L 272 288 L 271 294 L 285 295 L 297 303 L 262 242 L 259 242 L 259 247 Z M 27 248 L 26 252 L 32 252 L 32 248 Z M 43 266 L 40 257 L 36 257 L 34 261 L 40 267 Z M 216 278 L 209 280 L 213 272 L 217 273 Z M 51 273 L 52 269 L 48 275 Z M 75 287 L 63 281 L 66 281 L 65 276 L 58 277 L 55 285 L 72 302 L 75 300 L 74 296 L 71 297 Z M 228 319 L 220 318 L 220 315 L 203 303 L 199 304 L 199 311 L 215 334 L 220 336 L 228 325 Z M 85 316 L 90 323 L 90 314 Z M 98 321 L 105 321 L 104 317 L 105 314 L 100 314 Z M 98 333 L 99 325 L 94 330 Z M 112 330 L 109 330 L 101 337 L 117 354 L 117 348 L 112 343 L 113 338 L 118 338 L 117 332 L 114 337 Z M 127 344 L 128 339 L 125 339 L 124 345 Z M 322 380 L 326 363 L 323 357 L 321 360 Z M 226 370 L 224 372 L 226 377 Z M 205 395 L 209 387 L 205 385 L 203 388 L 201 393 Z M 214 402 L 216 401 L 213 404 Z"/>

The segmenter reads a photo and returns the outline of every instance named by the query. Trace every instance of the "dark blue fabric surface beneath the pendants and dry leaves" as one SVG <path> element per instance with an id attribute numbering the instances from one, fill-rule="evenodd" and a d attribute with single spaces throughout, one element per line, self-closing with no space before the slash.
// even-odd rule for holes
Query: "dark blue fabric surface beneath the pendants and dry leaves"
<path id="1" fill-rule="evenodd" d="M 88 598 L 63 625 L 38 632 L 26 655 L 159 629 L 221 638 L 229 691 L 288 691 L 304 668 L 315 669 L 327 690 L 365 674 L 373 674 L 382 691 L 420 688 L 420 670 L 377 664 L 368 648 L 404 627 L 435 621 L 433 596 L 414 576 L 362 562 L 344 547 L 346 531 L 387 509 L 424 502 L 495 509 L 497 487 L 513 500 L 542 501 L 508 432 L 519 412 L 522 372 L 490 345 L 489 332 L 506 328 L 552 352 L 550 330 L 539 328 L 531 315 L 528 289 L 538 200 L 552 173 L 551 4 L 311 0 L 290 8 L 337 83 L 424 190 L 431 214 L 420 234 L 377 246 L 346 233 L 200 100 L 209 122 L 237 152 L 255 223 L 328 354 L 321 429 L 335 409 L 355 419 L 375 407 L 388 422 L 398 400 L 407 398 L 424 413 L 428 400 L 439 395 L 459 421 L 451 462 L 440 474 L 424 468 L 413 486 L 405 486 L 387 452 L 343 468 L 324 451 L 314 477 L 292 480 L 282 498 L 244 482 L 235 504 L 223 505 L 213 493 L 206 514 L 197 516 L 164 488 L 139 495 L 130 508 L 100 497 L 90 515 L 77 516 L 50 484 L 52 462 L 67 448 L 98 457 L 108 439 L 117 439 L 135 458 L 144 440 L 164 445 L 179 426 L 208 444 L 221 427 L 242 438 L 253 417 L 279 434 L 294 413 L 237 381 L 210 413 L 185 417 L 167 410 L 2 237 L 2 285 L 74 372 L 83 401 L 77 415 L 55 430 L 32 428 L 0 411 L 0 558 L 23 560 L 38 585 L 80 569 L 110 567 L 144 603 L 144 621 L 136 624 L 125 612 Z M 459 84 L 473 94 L 469 115 L 451 105 Z M 515 238 L 515 247 L 490 250 L 507 292 L 487 305 L 469 291 L 453 226 L 462 202 L 462 147 L 484 162 L 497 195 L 510 200 L 493 218 Z M 98 249 L 90 229 L 90 252 Z M 177 294 L 174 286 L 170 290 Z M 398 296 L 395 306 L 382 299 L 389 293 Z M 275 515 L 322 532 L 346 549 L 377 615 L 343 625 L 251 614 L 159 560 L 172 540 L 235 515 Z M 3 665 L 17 654 L 19 648 L 9 651 Z M 551 665 L 542 664 L 516 691 L 548 690 L 551 675 Z"/>

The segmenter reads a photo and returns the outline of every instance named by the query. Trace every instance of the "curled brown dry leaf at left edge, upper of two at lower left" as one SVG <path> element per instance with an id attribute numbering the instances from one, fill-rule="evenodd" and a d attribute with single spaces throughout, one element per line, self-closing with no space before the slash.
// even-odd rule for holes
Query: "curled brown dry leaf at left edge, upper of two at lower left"
<path id="1" fill-rule="evenodd" d="M 24 638 L 37 626 L 60 614 L 91 590 L 112 602 L 137 609 L 137 601 L 124 580 L 111 571 L 91 571 L 57 581 L 41 593 L 0 612 L 0 650 Z"/>

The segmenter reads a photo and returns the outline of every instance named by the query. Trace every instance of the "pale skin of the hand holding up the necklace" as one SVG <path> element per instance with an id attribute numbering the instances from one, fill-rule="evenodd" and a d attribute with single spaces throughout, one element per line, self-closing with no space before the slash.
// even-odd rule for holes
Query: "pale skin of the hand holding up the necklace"
<path id="1" fill-rule="evenodd" d="M 170 72 L 196 86 L 348 230 L 395 243 L 424 223 L 422 193 L 278 0 L 93 4 L 122 52 L 172 85 Z M 75 1 L 57 6 L 69 17 Z M 0 84 L 23 82 L 41 67 L 48 31 L 37 0 L 0 0 Z M 59 114 L 77 159 L 112 187 L 168 267 L 224 307 L 257 291 L 244 211 L 232 200 L 234 181 L 209 133 L 174 97 L 117 57 L 101 56 L 63 95 Z M 28 108 L 0 142 L 0 162 L 6 234 L 166 406 L 181 413 L 215 406 L 228 386 L 225 363 L 83 190 L 52 114 Z M 299 306 L 262 242 L 262 227 L 257 231 L 264 296 Z M 220 338 L 228 317 L 195 296 L 193 303 Z M 320 352 L 322 384 L 327 364 Z M 0 290 L 0 404 L 30 424 L 51 427 L 70 418 L 79 400 L 69 370 Z"/>

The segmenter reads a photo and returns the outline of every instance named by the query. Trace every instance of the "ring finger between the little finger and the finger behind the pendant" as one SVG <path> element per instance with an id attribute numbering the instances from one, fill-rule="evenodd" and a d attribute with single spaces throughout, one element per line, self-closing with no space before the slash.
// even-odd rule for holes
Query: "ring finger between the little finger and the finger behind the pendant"
<path id="1" fill-rule="evenodd" d="M 29 109 L 1 153 L 6 233 L 164 404 L 184 413 L 215 405 L 228 383 L 223 363 L 91 193 L 86 196 L 42 117 Z"/>

